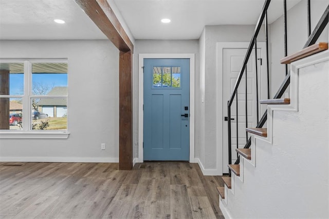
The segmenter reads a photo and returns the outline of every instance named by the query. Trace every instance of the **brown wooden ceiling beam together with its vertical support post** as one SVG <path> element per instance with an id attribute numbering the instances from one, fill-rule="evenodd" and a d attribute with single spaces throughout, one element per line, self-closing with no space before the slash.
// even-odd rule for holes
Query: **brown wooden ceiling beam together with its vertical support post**
<path id="1" fill-rule="evenodd" d="M 133 168 L 134 45 L 106 0 L 75 0 L 97 27 L 120 50 L 119 55 L 119 169 Z"/>

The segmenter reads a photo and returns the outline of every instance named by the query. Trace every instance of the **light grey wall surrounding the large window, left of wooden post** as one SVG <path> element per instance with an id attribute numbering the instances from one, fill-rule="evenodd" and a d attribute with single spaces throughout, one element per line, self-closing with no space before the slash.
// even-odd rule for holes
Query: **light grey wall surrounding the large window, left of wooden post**
<path id="1" fill-rule="evenodd" d="M 118 162 L 119 51 L 110 41 L 0 41 L 0 51 L 1 58 L 68 58 L 70 132 L 66 140 L 1 139 L 2 161 Z"/>

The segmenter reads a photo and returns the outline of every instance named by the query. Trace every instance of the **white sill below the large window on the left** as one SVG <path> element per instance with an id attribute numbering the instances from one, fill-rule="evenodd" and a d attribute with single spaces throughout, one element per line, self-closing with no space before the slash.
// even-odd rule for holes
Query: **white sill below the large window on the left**
<path id="1" fill-rule="evenodd" d="M 48 139 L 65 139 L 68 138 L 69 132 L 0 132 L 0 138 L 48 138 Z"/>

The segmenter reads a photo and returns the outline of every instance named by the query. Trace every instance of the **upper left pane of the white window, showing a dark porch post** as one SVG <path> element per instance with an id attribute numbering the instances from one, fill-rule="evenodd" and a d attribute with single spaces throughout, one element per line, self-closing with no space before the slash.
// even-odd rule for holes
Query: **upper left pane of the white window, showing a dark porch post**
<path id="1" fill-rule="evenodd" d="M 24 64 L 0 63 L 0 95 L 24 94 Z"/>

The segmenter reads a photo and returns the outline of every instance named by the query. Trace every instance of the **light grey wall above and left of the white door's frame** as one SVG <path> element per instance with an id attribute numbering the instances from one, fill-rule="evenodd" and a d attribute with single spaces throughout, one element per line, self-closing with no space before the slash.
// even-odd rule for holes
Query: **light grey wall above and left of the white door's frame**
<path id="1" fill-rule="evenodd" d="M 216 151 L 218 147 L 222 144 L 222 139 L 218 138 L 217 135 L 220 134 L 221 128 L 217 128 L 217 95 L 222 95 L 222 85 L 217 85 L 217 51 L 216 43 L 217 42 L 250 42 L 252 37 L 254 25 L 218 25 L 218 26 L 206 26 L 205 30 L 200 38 L 200 51 L 204 50 L 205 55 L 201 56 L 203 60 L 200 60 L 200 63 L 204 62 L 204 73 L 203 69 L 200 70 L 200 75 L 204 78 L 204 81 L 200 79 L 202 83 L 200 88 L 199 96 L 203 98 L 204 94 L 204 121 L 200 122 L 200 130 L 204 130 L 200 136 L 200 140 L 203 143 L 199 148 L 199 159 L 203 167 L 206 170 L 216 169 L 217 159 L 222 159 L 222 157 L 217 157 Z M 204 35 L 204 36 L 203 36 Z M 264 31 L 260 32 L 258 37 L 259 42 L 264 42 Z M 205 42 L 205 43 L 203 43 Z M 203 48 L 205 44 L 205 49 Z M 201 52 L 200 52 L 201 53 Z M 204 83 L 204 84 L 203 84 Z M 218 92 L 217 92 L 218 89 Z M 223 136 L 224 137 L 224 136 Z M 227 137 L 227 136 L 225 136 Z"/>

